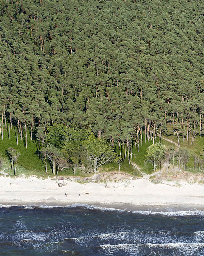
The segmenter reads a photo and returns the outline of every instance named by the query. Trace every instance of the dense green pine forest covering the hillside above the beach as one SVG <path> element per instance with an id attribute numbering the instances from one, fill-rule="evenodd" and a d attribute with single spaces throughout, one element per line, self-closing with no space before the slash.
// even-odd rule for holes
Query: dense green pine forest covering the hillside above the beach
<path id="1" fill-rule="evenodd" d="M 193 146 L 204 134 L 203 39 L 202 1 L 2 0 L 1 153 L 17 162 L 14 148 L 37 141 L 46 172 L 49 162 L 88 173 L 130 163 L 169 131 Z"/>

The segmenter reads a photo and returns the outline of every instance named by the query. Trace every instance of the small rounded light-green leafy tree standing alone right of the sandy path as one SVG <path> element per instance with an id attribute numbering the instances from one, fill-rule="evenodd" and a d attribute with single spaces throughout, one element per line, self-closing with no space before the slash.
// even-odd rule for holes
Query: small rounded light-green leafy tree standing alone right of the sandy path
<path id="1" fill-rule="evenodd" d="M 146 160 L 152 166 L 153 171 L 161 167 L 162 159 L 164 158 L 166 146 L 162 143 L 150 145 L 146 150 Z"/>

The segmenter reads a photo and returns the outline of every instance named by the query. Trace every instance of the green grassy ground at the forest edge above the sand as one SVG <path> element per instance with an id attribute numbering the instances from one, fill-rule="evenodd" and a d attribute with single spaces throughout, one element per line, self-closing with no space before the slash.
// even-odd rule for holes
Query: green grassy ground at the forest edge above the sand
<path id="1" fill-rule="evenodd" d="M 48 165 L 48 174 L 45 174 L 45 167 L 44 163 L 42 160 L 39 159 L 38 157 L 38 141 L 37 139 L 33 136 L 33 140 L 31 140 L 30 136 L 28 135 L 27 138 L 27 144 L 28 148 L 24 147 L 24 141 L 23 139 L 21 140 L 19 137 L 18 145 L 16 144 L 16 127 L 13 126 L 13 129 L 10 132 L 10 140 L 8 139 L 8 130 L 4 130 L 3 133 L 3 140 L 0 138 L 0 156 L 2 156 L 4 159 L 8 159 L 7 155 L 7 149 L 8 147 L 13 147 L 15 148 L 21 155 L 18 158 L 18 168 L 17 168 L 17 174 L 27 174 L 27 175 L 32 175 L 32 174 L 37 174 L 41 176 L 47 176 L 47 175 L 52 175 L 51 172 L 51 167 Z M 167 138 L 171 141 L 174 141 L 177 143 L 177 137 L 173 134 L 172 132 L 172 126 L 168 125 L 168 132 L 167 136 L 163 136 L 163 138 Z M 161 143 L 163 143 L 167 147 L 173 147 L 176 148 L 176 146 L 173 143 L 170 143 L 162 138 Z M 156 139 L 156 142 L 158 142 L 159 139 Z M 148 146 L 152 144 L 152 141 L 150 140 L 149 142 L 147 141 L 145 143 L 145 138 L 143 136 L 143 145 L 141 146 L 140 143 L 140 148 L 139 152 L 137 152 L 137 149 L 133 145 L 133 159 L 131 160 L 132 162 L 136 163 L 136 165 L 141 168 L 143 172 L 146 173 L 152 173 L 152 168 L 146 163 L 145 165 L 145 155 L 146 155 L 146 150 Z M 183 139 L 181 138 L 180 141 L 180 146 L 187 148 L 191 155 L 196 154 L 202 158 L 202 153 L 203 153 L 203 145 L 204 145 L 204 137 L 197 136 L 195 137 L 194 140 L 194 146 L 188 144 L 188 141 L 185 139 L 183 142 Z M 116 145 L 116 150 L 118 150 L 118 145 Z M 119 154 L 119 152 L 118 152 Z M 191 156 L 190 160 L 187 164 L 187 171 L 193 171 L 194 168 L 194 159 Z M 5 161 L 3 169 L 6 169 L 6 172 L 12 174 L 11 168 L 10 168 L 10 163 L 9 160 Z M 109 163 L 108 165 L 102 166 L 100 171 L 118 171 L 119 166 L 117 163 Z M 131 175 L 138 175 L 138 171 L 133 167 L 133 165 L 129 165 L 128 163 L 128 157 L 126 157 L 126 160 L 124 160 L 124 163 L 121 164 L 120 170 L 122 172 L 127 172 L 130 173 Z M 65 174 L 65 173 L 64 173 Z M 71 170 L 66 172 L 67 175 L 72 175 Z M 85 176 L 84 173 L 81 173 L 80 171 L 77 172 L 77 175 L 80 176 Z"/>

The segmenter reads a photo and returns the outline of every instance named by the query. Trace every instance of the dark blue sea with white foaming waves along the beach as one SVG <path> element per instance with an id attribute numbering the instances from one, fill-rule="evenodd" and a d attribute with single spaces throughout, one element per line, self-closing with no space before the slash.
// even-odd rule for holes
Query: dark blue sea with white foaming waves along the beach
<path id="1" fill-rule="evenodd" d="M 0 255 L 203 256 L 204 211 L 170 210 L 0 206 Z"/>

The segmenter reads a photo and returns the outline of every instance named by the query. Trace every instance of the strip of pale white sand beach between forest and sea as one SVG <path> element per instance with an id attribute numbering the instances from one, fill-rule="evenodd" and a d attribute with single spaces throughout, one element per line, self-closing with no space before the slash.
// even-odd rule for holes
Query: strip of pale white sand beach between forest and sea
<path id="1" fill-rule="evenodd" d="M 128 180 L 108 183 L 77 183 L 66 181 L 67 185 L 58 187 L 55 180 L 36 177 L 0 176 L 1 204 L 31 204 L 39 202 L 68 205 L 85 204 L 131 204 L 131 205 L 195 205 L 204 206 L 204 186 L 180 183 L 180 186 L 154 184 L 148 179 Z M 68 193 L 67 198 L 65 193 Z M 78 196 L 80 194 L 80 197 Z M 19 203 L 21 202 L 22 203 Z M 204 207 L 203 207 L 204 208 Z"/>

